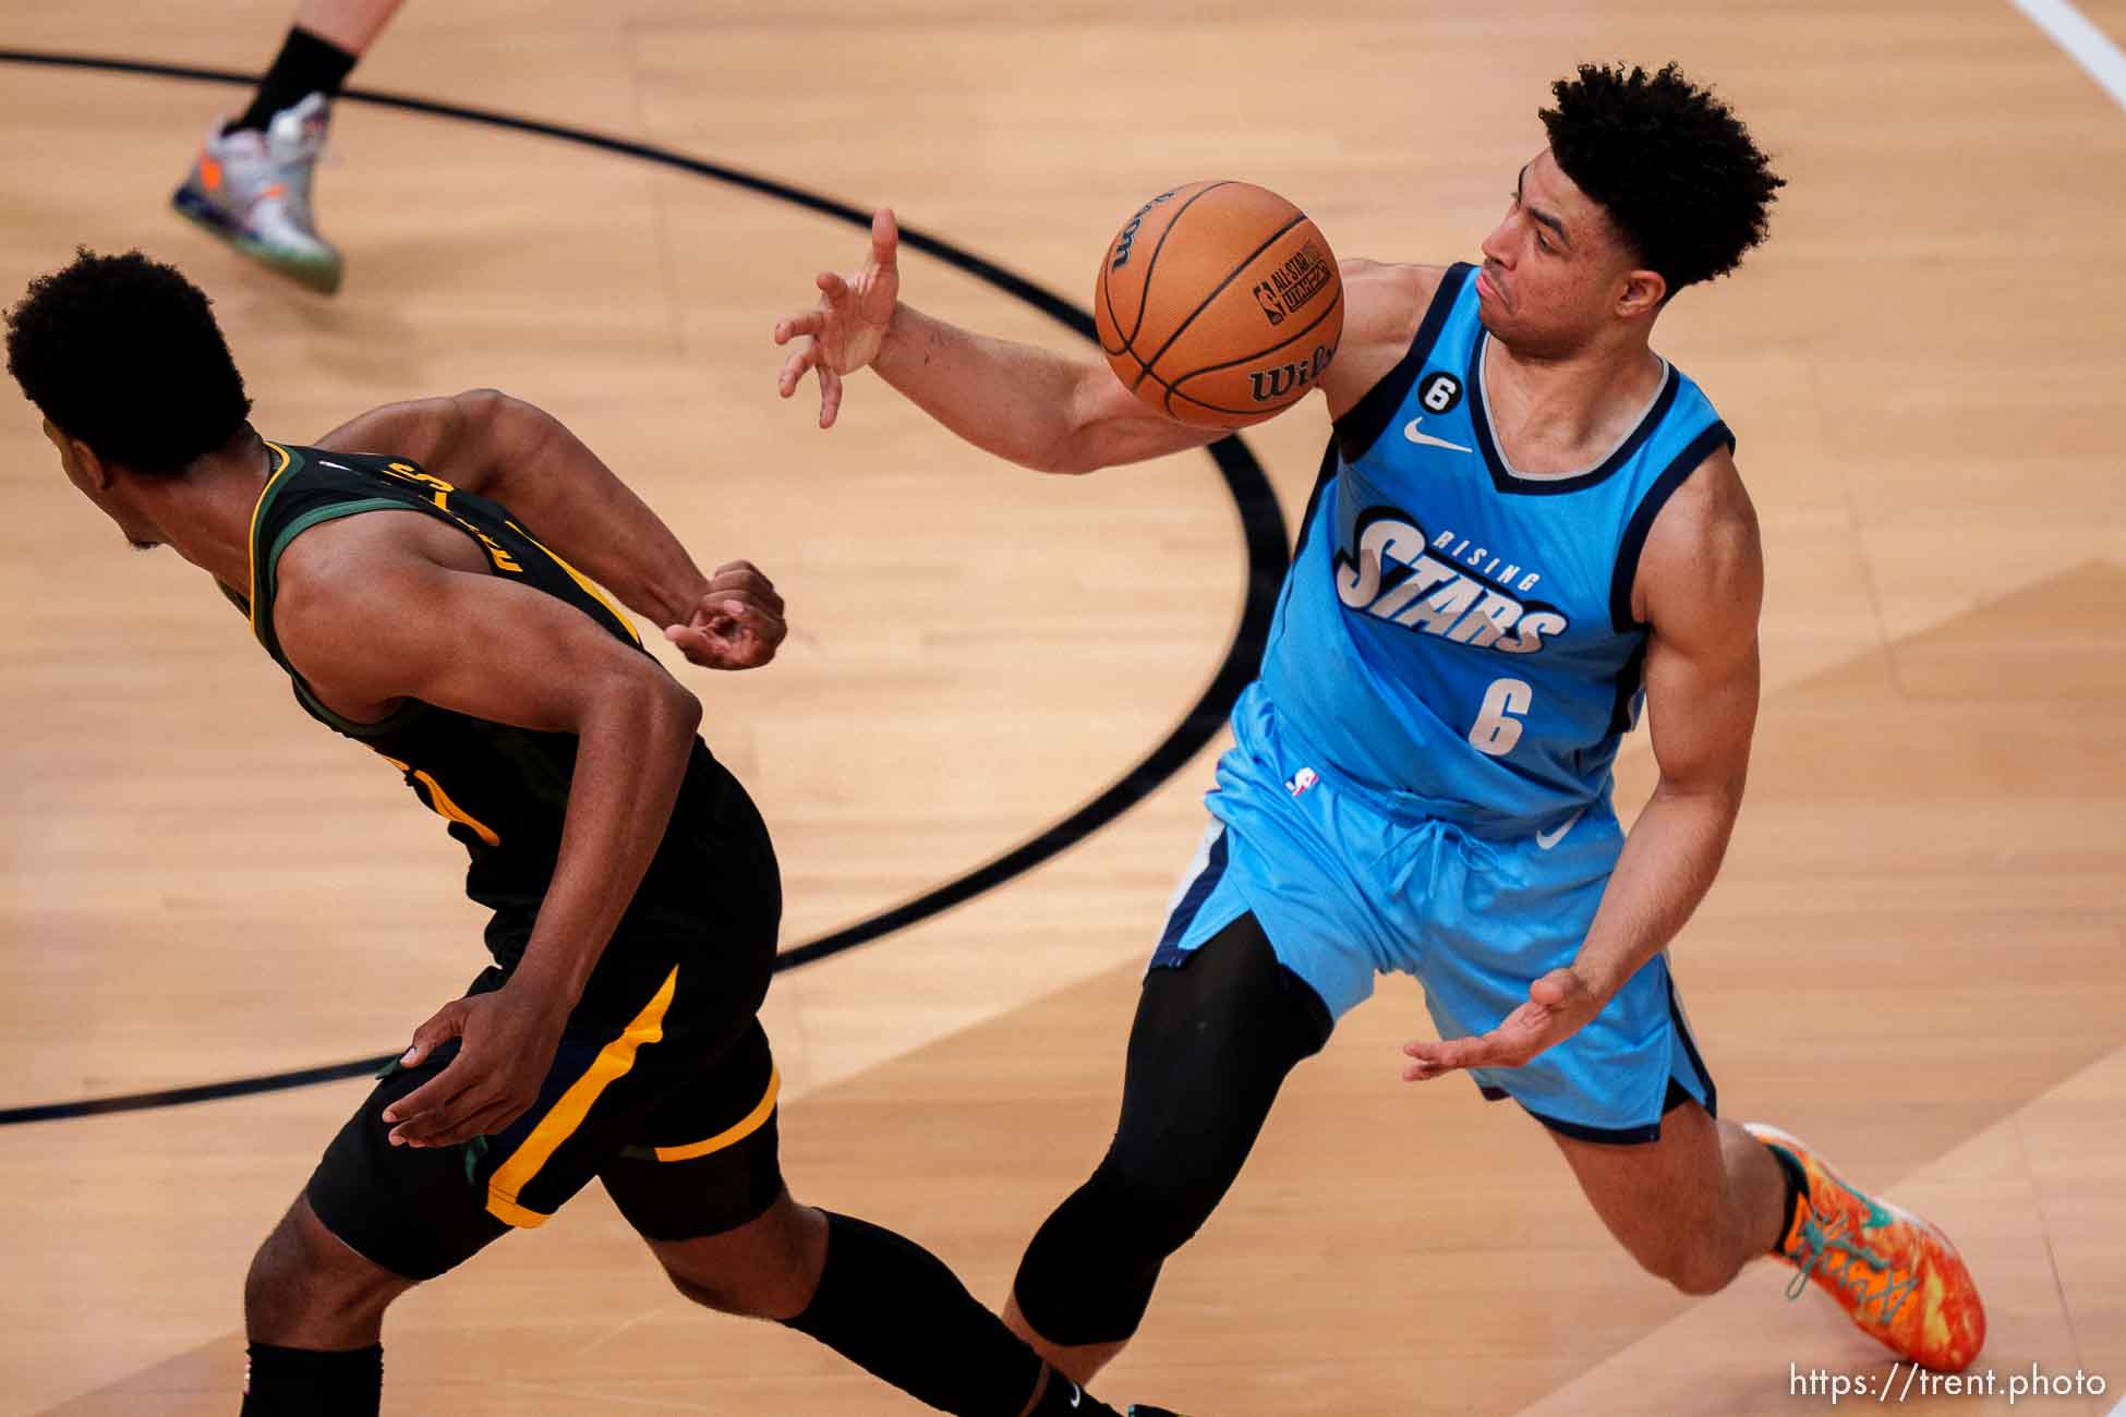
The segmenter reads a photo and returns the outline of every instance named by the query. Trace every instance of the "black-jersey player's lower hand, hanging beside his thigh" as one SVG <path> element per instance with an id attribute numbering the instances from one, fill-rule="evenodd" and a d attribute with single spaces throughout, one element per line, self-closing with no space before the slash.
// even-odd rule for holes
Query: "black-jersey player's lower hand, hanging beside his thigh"
<path id="1" fill-rule="evenodd" d="M 421 1066 L 451 1039 L 461 1039 L 451 1066 L 385 1107 L 393 1147 L 455 1147 L 493 1137 L 538 1100 L 553 1066 L 566 1011 L 508 986 L 453 998 L 412 1030 L 400 1062 Z"/>

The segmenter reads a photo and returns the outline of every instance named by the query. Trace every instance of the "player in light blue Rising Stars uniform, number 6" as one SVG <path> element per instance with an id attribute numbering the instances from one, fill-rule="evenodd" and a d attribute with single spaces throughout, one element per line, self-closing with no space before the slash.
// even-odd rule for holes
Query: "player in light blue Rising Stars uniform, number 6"
<path id="1" fill-rule="evenodd" d="M 1654 1275 L 1711 1294 L 1773 1253 L 1792 1294 L 1813 1279 L 1907 1360 L 1956 1370 L 1984 1343 L 1939 1230 L 1718 1115 L 1665 956 L 1741 805 L 1762 563 L 1735 440 L 1650 336 L 1765 238 L 1782 181 L 1675 66 L 1580 68 L 1541 119 L 1482 266 L 1344 266 L 1333 438 L 1152 952 L 1123 1117 L 1006 1311 L 1080 1381 L 1382 971 L 1424 984 L 1439 1030 L 1403 1077 L 1467 1071 L 1520 1103 Z M 799 340 L 784 397 L 819 372 L 823 427 L 872 368 L 1042 472 L 1220 436 L 1101 363 L 899 304 L 891 212 L 865 268 L 819 287 L 776 340 Z M 1660 782 L 1626 837 L 1609 767 L 1641 703 Z"/>

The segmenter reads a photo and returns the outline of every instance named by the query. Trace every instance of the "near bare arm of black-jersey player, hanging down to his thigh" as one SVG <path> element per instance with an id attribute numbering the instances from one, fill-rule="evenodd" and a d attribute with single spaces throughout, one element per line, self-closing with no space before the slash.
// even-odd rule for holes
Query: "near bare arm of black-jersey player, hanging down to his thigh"
<path id="1" fill-rule="evenodd" d="M 319 699 L 357 722 L 421 699 L 578 737 L 559 863 L 521 964 L 502 990 L 421 1024 L 408 1066 L 453 1037 L 461 1052 L 385 1113 L 402 1145 L 500 1132 L 536 1100 L 657 852 L 702 705 L 657 661 L 489 574 L 470 537 L 419 514 L 351 516 L 298 537 L 281 559 L 274 629 Z"/>

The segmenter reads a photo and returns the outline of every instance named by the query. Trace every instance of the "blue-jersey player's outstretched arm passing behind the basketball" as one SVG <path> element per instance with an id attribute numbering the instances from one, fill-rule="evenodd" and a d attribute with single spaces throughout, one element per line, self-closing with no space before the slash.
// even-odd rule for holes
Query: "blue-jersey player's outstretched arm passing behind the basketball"
<path id="1" fill-rule="evenodd" d="M 778 391 L 791 397 L 816 372 L 821 427 L 833 427 L 840 414 L 842 378 L 872 368 L 963 440 L 1035 472 L 1095 472 L 1225 438 L 1154 412 L 1106 363 L 993 340 L 904 304 L 897 253 L 893 212 L 880 210 L 863 268 L 848 276 L 821 272 L 819 306 L 776 323 L 776 344 L 799 342 L 782 363 Z M 1441 274 L 1378 261 L 1344 261 L 1342 270 L 1344 342 L 1320 380 L 1331 416 L 1403 357 Z"/>

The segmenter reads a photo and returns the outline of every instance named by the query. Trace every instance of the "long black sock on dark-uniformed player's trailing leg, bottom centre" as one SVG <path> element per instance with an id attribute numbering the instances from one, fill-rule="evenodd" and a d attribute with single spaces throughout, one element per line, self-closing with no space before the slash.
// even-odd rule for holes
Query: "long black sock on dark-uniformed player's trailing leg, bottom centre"
<path id="1" fill-rule="evenodd" d="M 1018 1417 L 1042 1379 L 1042 1360 L 1003 1319 L 982 1309 L 931 1251 L 848 1215 L 827 1215 L 819 1292 L 789 1328 L 819 1338 L 872 1377 L 955 1417 Z M 1035 1409 L 1116 1417 L 1050 1375 Z"/>

